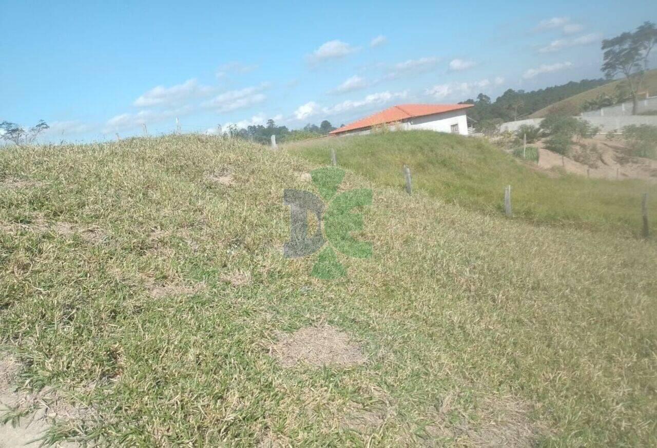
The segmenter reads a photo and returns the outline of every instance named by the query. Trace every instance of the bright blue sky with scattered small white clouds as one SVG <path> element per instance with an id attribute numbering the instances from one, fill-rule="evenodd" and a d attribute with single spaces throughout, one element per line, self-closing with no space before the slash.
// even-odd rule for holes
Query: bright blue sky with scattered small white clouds
<path id="1" fill-rule="evenodd" d="M 2 1 L 0 121 L 44 139 L 334 125 L 404 102 L 599 78 L 657 2 Z"/>

